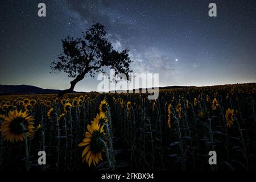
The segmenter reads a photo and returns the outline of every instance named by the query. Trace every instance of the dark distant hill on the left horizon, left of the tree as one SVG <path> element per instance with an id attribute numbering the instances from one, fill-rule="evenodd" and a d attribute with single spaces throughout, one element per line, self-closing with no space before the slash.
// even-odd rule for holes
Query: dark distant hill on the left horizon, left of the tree
<path id="1" fill-rule="evenodd" d="M 0 95 L 9 94 L 52 94 L 59 93 L 60 90 L 42 89 L 30 85 L 0 85 Z"/>

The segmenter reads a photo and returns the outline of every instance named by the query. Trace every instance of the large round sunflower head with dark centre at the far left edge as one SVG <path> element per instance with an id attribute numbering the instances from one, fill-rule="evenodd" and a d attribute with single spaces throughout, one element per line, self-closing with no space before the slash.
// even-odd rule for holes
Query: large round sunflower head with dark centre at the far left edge
<path id="1" fill-rule="evenodd" d="M 34 118 L 27 114 L 27 111 L 24 111 L 24 113 L 22 113 L 22 110 L 10 111 L 0 129 L 3 139 L 10 142 L 14 142 L 14 140 L 16 142 L 23 141 L 26 135 L 29 137 L 34 133 L 33 129 L 35 127 L 32 121 L 34 121 Z M 23 130 L 22 124 L 26 130 Z"/>

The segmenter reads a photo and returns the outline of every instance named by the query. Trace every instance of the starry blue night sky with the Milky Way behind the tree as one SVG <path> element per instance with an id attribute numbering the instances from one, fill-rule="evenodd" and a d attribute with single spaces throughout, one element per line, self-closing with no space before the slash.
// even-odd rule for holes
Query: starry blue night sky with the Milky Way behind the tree
<path id="1" fill-rule="evenodd" d="M 208 15 L 211 2 L 217 17 Z M 106 26 L 115 49 L 130 50 L 134 72 L 159 73 L 159 86 L 256 82 L 254 0 L 1 0 L 0 84 L 69 88 L 72 79 L 50 73 L 50 64 L 61 39 L 80 38 L 93 21 Z M 88 76 L 75 90 L 99 82 Z"/>

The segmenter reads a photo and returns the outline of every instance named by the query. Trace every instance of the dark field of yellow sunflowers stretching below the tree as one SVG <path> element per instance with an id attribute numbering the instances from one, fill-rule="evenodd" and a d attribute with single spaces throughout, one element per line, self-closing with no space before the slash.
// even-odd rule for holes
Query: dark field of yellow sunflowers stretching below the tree
<path id="1" fill-rule="evenodd" d="M 255 170 L 255 106 L 256 84 L 0 96 L 0 170 Z"/>

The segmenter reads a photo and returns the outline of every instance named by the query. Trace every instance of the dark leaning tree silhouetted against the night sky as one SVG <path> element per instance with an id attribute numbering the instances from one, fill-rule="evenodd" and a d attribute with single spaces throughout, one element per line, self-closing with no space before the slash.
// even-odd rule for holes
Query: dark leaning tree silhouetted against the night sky
<path id="1" fill-rule="evenodd" d="M 61 90 L 59 97 L 65 93 L 71 93 L 77 82 L 81 81 L 88 73 L 94 77 L 95 72 L 105 73 L 105 68 L 115 69 L 115 74 L 123 73 L 128 78 L 130 70 L 130 57 L 128 50 L 118 52 L 113 49 L 112 44 L 106 38 L 108 33 L 106 27 L 95 23 L 83 32 L 83 38 L 73 39 L 67 37 L 61 40 L 63 53 L 58 56 L 57 61 L 51 63 L 52 72 L 65 72 L 72 80 L 69 89 Z"/>

